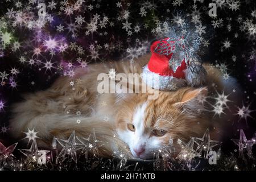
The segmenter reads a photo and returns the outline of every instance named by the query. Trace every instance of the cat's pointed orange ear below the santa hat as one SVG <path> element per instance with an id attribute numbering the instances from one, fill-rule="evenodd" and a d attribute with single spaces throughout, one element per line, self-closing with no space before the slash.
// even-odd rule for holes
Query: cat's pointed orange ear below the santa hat
<path id="1" fill-rule="evenodd" d="M 188 90 L 183 94 L 181 100 L 174 104 L 175 107 L 187 111 L 202 111 L 204 110 L 204 101 L 207 97 L 208 89 L 198 88 L 195 90 Z"/>

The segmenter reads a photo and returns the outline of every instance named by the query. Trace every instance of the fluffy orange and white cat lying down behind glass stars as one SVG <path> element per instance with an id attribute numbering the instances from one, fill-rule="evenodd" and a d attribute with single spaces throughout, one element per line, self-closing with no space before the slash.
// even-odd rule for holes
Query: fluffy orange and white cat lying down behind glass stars
<path id="1" fill-rule="evenodd" d="M 53 136 L 68 138 L 75 130 L 77 136 L 86 138 L 94 131 L 105 143 L 98 148 L 98 155 L 109 157 L 119 151 L 137 159 L 151 159 L 170 139 L 176 155 L 180 150 L 177 139 L 186 142 L 190 137 L 202 137 L 207 128 L 213 139 L 220 139 L 224 120 L 232 116 L 213 117 L 204 99 L 224 88 L 231 92 L 236 80 L 225 81 L 221 71 L 209 64 L 203 64 L 207 84 L 159 90 L 155 100 L 148 99 L 149 93 L 97 93 L 100 73 L 115 69 L 124 75 L 140 74 L 150 56 L 139 57 L 134 63 L 113 61 L 77 68 L 74 77 L 61 76 L 49 89 L 24 95 L 24 101 L 12 107 L 11 134 L 22 139 L 23 131 L 35 129 L 39 147 L 51 148 Z M 75 85 L 71 86 L 71 81 L 76 81 Z"/>

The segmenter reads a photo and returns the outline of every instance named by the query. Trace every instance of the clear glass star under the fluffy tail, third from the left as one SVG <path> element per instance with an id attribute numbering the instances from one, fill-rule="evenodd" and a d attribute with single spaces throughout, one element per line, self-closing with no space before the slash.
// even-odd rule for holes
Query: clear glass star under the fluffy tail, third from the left
<path id="1" fill-rule="evenodd" d="M 53 140 L 56 140 L 62 147 L 60 154 L 57 156 L 57 159 L 62 159 L 62 161 L 66 160 L 67 158 L 71 157 L 71 159 L 77 163 L 77 150 L 80 150 L 84 147 L 79 142 L 76 142 L 76 134 L 75 131 L 71 133 L 68 140 L 59 139 L 59 138 L 53 138 Z M 53 142 L 54 143 L 54 142 Z M 53 147 L 53 149 L 56 146 Z"/>

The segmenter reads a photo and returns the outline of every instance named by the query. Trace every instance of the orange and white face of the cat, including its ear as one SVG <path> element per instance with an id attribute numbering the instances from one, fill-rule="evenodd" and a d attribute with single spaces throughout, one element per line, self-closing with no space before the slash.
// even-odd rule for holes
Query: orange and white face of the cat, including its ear
<path id="1" fill-rule="evenodd" d="M 184 88 L 159 92 L 156 100 L 147 94 L 127 97 L 119 106 L 117 132 L 135 158 L 151 159 L 155 151 L 171 140 L 200 136 L 208 127 L 201 113 L 207 89 Z"/>

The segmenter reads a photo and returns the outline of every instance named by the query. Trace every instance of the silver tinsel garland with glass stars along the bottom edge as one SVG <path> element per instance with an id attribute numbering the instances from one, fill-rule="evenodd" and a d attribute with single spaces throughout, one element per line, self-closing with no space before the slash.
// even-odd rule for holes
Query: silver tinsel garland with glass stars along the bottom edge
<path id="1" fill-rule="evenodd" d="M 68 140 L 53 138 L 52 151 L 39 150 L 36 140 L 30 149 L 18 149 L 23 157 L 15 158 L 13 152 L 18 143 L 5 147 L 0 143 L 0 169 L 1 170 L 252 170 L 255 169 L 255 158 L 251 151 L 255 144 L 255 136 L 250 140 L 245 138 L 241 130 L 240 139 L 232 139 L 239 147 L 239 155 L 226 156 L 217 153 L 217 164 L 210 165 L 209 155 L 220 142 L 210 139 L 209 130 L 202 138 L 191 138 L 188 143 L 180 140 L 180 152 L 174 158 L 173 140 L 170 144 L 159 148 L 154 153 L 154 159 L 131 160 L 127 154 L 115 152 L 112 159 L 98 156 L 98 147 L 102 146 L 93 132 L 89 138 L 76 137 L 75 131 Z M 57 149 L 57 143 L 61 151 Z"/>

